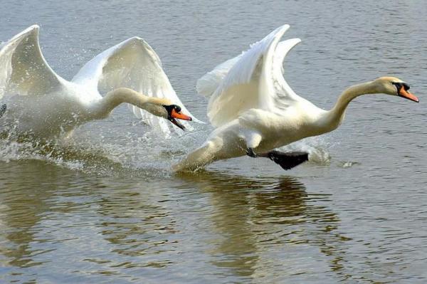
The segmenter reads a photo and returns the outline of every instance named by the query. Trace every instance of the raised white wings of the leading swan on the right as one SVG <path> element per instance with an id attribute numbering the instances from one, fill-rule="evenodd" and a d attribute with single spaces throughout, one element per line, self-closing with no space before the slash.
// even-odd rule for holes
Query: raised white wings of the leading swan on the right
<path id="1" fill-rule="evenodd" d="M 304 100 L 283 78 L 283 60 L 300 42 L 299 38 L 279 42 L 288 28 L 280 26 L 241 56 L 199 79 L 199 93 L 211 95 L 208 117 L 212 125 L 219 127 L 251 108 L 280 112 L 292 102 Z"/>

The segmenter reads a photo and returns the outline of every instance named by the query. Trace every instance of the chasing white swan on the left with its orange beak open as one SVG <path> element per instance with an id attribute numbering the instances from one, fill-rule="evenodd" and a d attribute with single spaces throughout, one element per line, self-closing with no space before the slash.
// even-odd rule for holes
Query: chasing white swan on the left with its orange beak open
<path id="1" fill-rule="evenodd" d="M 172 130 L 167 120 L 184 129 L 176 118 L 193 117 L 176 96 L 159 57 L 142 38 L 129 38 L 100 53 L 68 81 L 43 58 L 38 30 L 31 26 L 1 46 L 0 132 L 50 139 L 107 117 L 122 102 L 165 133 Z M 98 89 L 107 94 L 102 97 Z"/>

